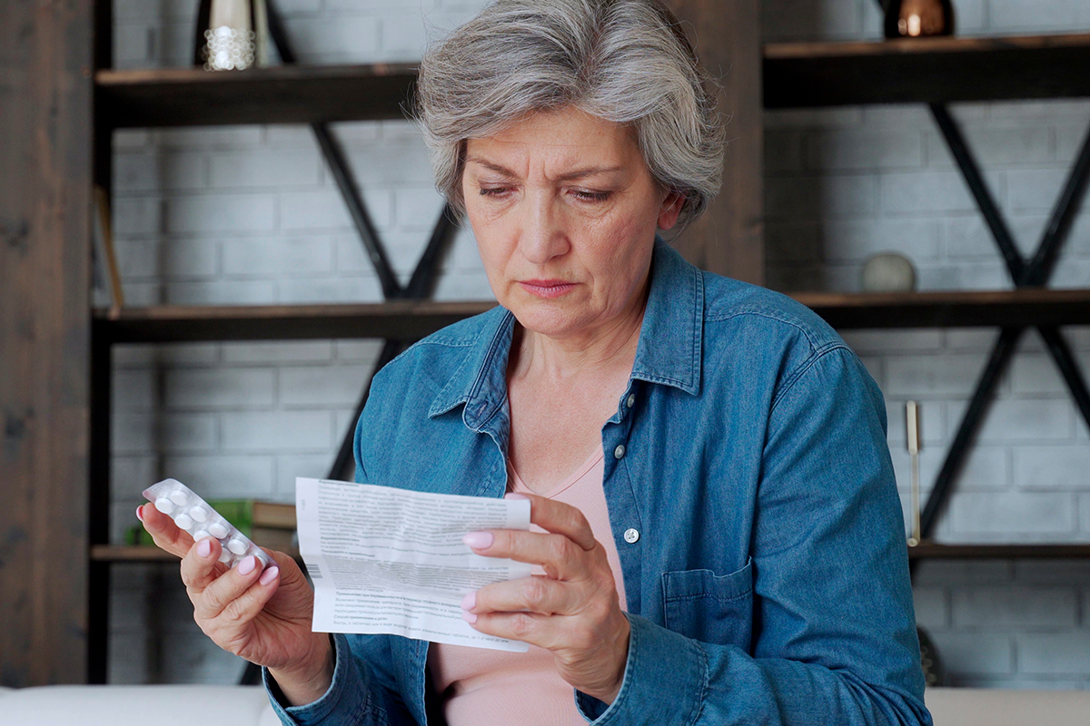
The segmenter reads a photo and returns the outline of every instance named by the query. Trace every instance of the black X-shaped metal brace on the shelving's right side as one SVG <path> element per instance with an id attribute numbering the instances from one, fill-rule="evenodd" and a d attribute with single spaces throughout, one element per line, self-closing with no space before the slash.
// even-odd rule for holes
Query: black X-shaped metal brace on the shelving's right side
<path id="1" fill-rule="evenodd" d="M 992 198 L 991 192 L 986 184 L 984 184 L 983 176 L 969 151 L 965 137 L 961 135 L 960 128 L 946 106 L 932 103 L 931 112 L 954 155 L 954 159 L 957 161 L 958 168 L 965 176 L 969 190 L 972 193 L 977 206 L 984 217 L 984 221 L 995 239 L 995 244 L 1000 248 L 1000 254 L 1003 256 L 1015 286 L 1043 286 L 1052 276 L 1056 258 L 1059 255 L 1061 247 L 1067 239 L 1075 213 L 1086 194 L 1087 182 L 1090 181 L 1090 131 L 1088 131 L 1083 139 L 1082 147 L 1067 176 L 1063 192 L 1053 207 L 1052 216 L 1049 219 L 1049 224 L 1044 230 L 1040 244 L 1033 257 L 1026 259 L 1018 251 L 1010 230 L 1007 227 L 995 200 Z M 1075 403 L 1082 414 L 1082 418 L 1090 426 L 1090 393 L 1088 393 L 1086 380 L 1079 370 L 1070 347 L 1067 345 L 1067 341 L 1059 332 L 1059 329 L 1054 325 L 1036 325 L 1036 329 L 1044 340 L 1049 354 L 1055 360 L 1064 378 L 1064 382 L 1070 390 L 1071 396 L 1075 398 Z M 920 529 L 923 537 L 929 537 L 933 532 L 938 516 L 942 514 L 954 491 L 954 483 L 961 470 L 961 466 L 965 464 L 969 446 L 980 429 L 989 404 L 994 397 L 995 387 L 1004 370 L 1006 370 L 1007 364 L 1009 364 L 1010 358 L 1014 356 L 1018 339 L 1021 337 L 1025 331 L 1026 328 L 1021 327 L 1003 328 L 1000 332 L 1000 337 L 996 340 L 988 364 L 980 374 L 977 387 L 969 399 L 969 405 L 961 417 L 957 433 L 954 436 L 954 441 L 950 442 L 950 446 L 946 452 L 946 458 L 938 470 L 938 475 L 935 477 L 935 483 L 931 489 L 927 505 L 923 507 L 923 513 L 920 516 Z"/>

